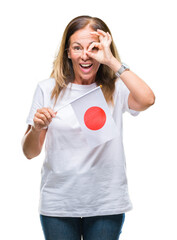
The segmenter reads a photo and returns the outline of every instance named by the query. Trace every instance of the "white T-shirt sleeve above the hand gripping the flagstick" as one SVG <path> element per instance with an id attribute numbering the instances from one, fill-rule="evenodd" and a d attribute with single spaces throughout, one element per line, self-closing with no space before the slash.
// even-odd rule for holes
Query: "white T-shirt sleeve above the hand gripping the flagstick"
<path id="1" fill-rule="evenodd" d="M 42 108 L 44 105 L 43 92 L 39 85 L 37 85 L 36 90 L 34 92 L 31 109 L 29 111 L 28 117 L 26 119 L 26 123 L 33 126 L 33 118 L 37 111 L 37 109 Z"/>

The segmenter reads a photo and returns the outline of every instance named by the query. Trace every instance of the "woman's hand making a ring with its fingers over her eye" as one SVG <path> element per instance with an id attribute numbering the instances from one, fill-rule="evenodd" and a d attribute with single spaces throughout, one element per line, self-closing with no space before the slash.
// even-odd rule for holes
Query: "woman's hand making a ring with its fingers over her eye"
<path id="1" fill-rule="evenodd" d="M 88 48 L 87 55 L 101 64 L 109 65 L 109 62 L 113 57 L 110 49 L 112 42 L 111 35 L 100 29 L 91 32 L 90 34 L 98 36 L 100 42 L 93 42 Z"/>

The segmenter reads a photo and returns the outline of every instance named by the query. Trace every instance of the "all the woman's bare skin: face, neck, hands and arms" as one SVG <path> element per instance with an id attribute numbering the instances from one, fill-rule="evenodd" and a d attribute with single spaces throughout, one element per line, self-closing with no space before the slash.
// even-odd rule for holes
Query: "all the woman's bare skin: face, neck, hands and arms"
<path id="1" fill-rule="evenodd" d="M 68 58 L 71 59 L 75 73 L 75 84 L 91 84 L 95 82 L 100 64 L 105 64 L 114 72 L 121 67 L 121 63 L 112 55 L 110 50 L 112 38 L 102 30 L 93 31 L 85 28 L 76 31 L 70 37 Z M 83 68 L 83 64 L 91 67 Z M 124 71 L 121 80 L 130 90 L 128 105 L 130 109 L 143 111 L 154 104 L 155 95 L 149 86 L 132 71 Z M 22 147 L 28 159 L 40 154 L 44 143 L 47 127 L 56 113 L 50 108 L 38 109 L 34 116 L 34 126 L 28 129 L 22 140 Z M 45 128 L 45 129 L 44 129 Z"/>

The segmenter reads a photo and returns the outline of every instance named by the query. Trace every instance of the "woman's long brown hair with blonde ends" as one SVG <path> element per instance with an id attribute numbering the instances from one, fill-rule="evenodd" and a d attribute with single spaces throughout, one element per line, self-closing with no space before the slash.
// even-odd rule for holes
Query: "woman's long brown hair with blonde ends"
<path id="1" fill-rule="evenodd" d="M 112 37 L 108 26 L 99 18 L 83 15 L 76 17 L 69 22 L 63 33 L 60 49 L 53 62 L 53 70 L 50 75 L 50 77 L 55 79 L 55 87 L 51 94 L 51 99 L 55 98 L 55 103 L 61 90 L 66 88 L 69 82 L 74 81 L 72 61 L 68 58 L 67 53 L 67 49 L 70 45 L 70 37 L 76 31 L 83 29 L 87 25 L 89 25 L 94 31 L 101 29 L 104 32 L 109 32 Z M 113 40 L 111 42 L 110 49 L 113 56 L 120 61 L 120 57 Z M 98 69 L 95 82 L 97 85 L 102 85 L 102 91 L 107 102 L 112 100 L 115 90 L 115 81 L 115 73 L 108 66 L 101 64 Z"/>

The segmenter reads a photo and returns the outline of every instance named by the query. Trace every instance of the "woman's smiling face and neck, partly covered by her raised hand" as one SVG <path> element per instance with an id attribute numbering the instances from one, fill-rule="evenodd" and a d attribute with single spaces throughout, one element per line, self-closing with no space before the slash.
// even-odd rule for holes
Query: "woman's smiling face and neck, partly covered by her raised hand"
<path id="1" fill-rule="evenodd" d="M 98 36 L 91 35 L 94 30 L 89 26 L 76 31 L 70 37 L 68 57 L 73 64 L 74 83 L 91 84 L 95 82 L 100 63 L 87 55 L 87 50 L 93 42 L 99 42 Z M 92 51 L 97 51 L 93 49 Z"/>

